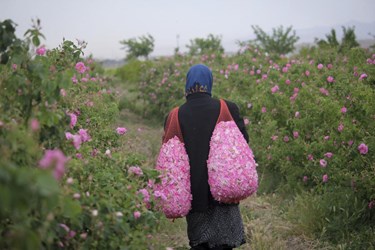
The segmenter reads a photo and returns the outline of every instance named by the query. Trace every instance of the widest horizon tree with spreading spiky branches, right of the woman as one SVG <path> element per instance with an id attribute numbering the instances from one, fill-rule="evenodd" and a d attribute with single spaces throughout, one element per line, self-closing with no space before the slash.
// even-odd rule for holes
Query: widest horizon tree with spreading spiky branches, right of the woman
<path id="1" fill-rule="evenodd" d="M 276 55 L 288 54 L 293 52 L 295 43 L 299 40 L 293 27 L 287 27 L 284 31 L 283 26 L 272 29 L 272 36 L 268 35 L 257 25 L 251 28 L 256 36 L 255 42 L 258 43 L 265 51 Z"/>

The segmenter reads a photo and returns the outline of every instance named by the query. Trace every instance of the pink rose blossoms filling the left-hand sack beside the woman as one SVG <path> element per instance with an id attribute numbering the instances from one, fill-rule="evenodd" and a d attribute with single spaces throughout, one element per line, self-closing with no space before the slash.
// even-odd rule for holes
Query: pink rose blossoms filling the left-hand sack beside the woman
<path id="1" fill-rule="evenodd" d="M 191 209 L 190 165 L 177 136 L 164 143 L 156 164 L 160 183 L 154 185 L 157 206 L 167 218 L 186 216 Z"/>

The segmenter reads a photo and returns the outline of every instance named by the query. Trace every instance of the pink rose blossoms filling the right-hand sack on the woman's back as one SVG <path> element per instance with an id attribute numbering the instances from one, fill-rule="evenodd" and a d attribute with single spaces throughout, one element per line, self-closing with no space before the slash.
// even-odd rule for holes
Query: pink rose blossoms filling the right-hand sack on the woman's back
<path id="1" fill-rule="evenodd" d="M 258 174 L 254 155 L 234 121 L 216 125 L 207 160 L 212 196 L 235 203 L 255 193 Z"/>

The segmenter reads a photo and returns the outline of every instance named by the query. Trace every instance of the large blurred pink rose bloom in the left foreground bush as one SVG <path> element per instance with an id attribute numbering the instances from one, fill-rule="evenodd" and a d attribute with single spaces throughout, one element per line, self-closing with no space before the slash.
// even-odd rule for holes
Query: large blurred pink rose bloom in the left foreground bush
<path id="1" fill-rule="evenodd" d="M 56 180 L 60 180 L 65 173 L 65 163 L 68 159 L 59 149 L 46 150 L 43 158 L 39 161 L 40 168 L 53 167 L 53 176 Z"/>

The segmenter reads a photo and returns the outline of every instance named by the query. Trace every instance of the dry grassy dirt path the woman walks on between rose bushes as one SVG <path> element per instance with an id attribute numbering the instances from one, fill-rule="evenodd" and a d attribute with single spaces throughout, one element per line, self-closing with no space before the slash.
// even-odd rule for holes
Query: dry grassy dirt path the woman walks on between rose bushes
<path id="1" fill-rule="evenodd" d="M 120 92 L 120 98 L 131 100 L 131 94 L 127 90 L 117 90 Z M 144 119 L 132 110 L 124 108 L 118 125 L 128 129 L 128 140 L 121 146 L 124 153 L 145 157 L 146 167 L 153 168 L 161 146 L 162 123 Z M 284 216 L 286 204 L 282 197 L 275 194 L 250 197 L 241 202 L 240 208 L 247 243 L 238 249 L 332 249 L 326 247 L 324 242 L 309 239 L 298 232 Z M 162 217 L 158 232 L 150 242 L 152 250 L 165 250 L 167 247 L 174 250 L 190 249 L 185 219 L 172 222 Z"/>

